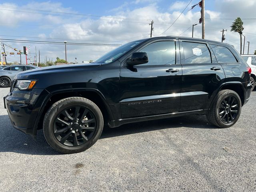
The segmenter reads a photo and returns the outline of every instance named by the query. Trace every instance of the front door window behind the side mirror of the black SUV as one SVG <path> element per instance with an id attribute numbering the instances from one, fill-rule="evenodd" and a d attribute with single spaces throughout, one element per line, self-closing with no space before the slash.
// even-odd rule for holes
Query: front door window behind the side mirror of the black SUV
<path id="1" fill-rule="evenodd" d="M 175 42 L 160 41 L 149 44 L 140 52 L 146 52 L 148 63 L 142 65 L 171 65 L 175 64 Z"/>

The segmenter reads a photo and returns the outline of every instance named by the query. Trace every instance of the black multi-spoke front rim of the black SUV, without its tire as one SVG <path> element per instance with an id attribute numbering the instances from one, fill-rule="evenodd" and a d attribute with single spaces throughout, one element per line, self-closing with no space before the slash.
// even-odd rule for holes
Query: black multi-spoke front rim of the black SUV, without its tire
<path id="1" fill-rule="evenodd" d="M 92 138 L 96 126 L 96 118 L 89 109 L 72 106 L 62 110 L 55 118 L 53 132 L 61 144 L 79 146 Z"/>

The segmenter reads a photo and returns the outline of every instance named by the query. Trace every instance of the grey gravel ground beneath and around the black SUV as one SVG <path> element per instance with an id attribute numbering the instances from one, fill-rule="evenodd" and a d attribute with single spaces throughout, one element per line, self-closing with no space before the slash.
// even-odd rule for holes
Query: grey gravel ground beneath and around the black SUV
<path id="1" fill-rule="evenodd" d="M 0 102 L 0 191 L 256 191 L 255 100 L 256 91 L 231 128 L 205 116 L 134 123 L 68 155 L 42 130 L 33 140 L 12 128 Z"/>

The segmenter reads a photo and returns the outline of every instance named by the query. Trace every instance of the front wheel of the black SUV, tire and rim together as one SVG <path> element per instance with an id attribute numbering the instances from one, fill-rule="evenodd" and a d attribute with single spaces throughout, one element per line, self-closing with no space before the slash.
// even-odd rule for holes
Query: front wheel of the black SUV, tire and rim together
<path id="1" fill-rule="evenodd" d="M 48 144 L 71 154 L 90 148 L 100 138 L 103 116 L 96 104 L 82 97 L 54 103 L 44 116 L 43 131 Z"/>

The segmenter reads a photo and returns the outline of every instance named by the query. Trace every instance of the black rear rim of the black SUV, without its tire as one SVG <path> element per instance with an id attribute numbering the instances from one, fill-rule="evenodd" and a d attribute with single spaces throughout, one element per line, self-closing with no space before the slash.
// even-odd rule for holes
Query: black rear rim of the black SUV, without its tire
<path id="1" fill-rule="evenodd" d="M 231 123 L 236 119 L 238 114 L 238 100 L 230 95 L 222 99 L 219 107 L 219 116 L 222 122 Z"/>

